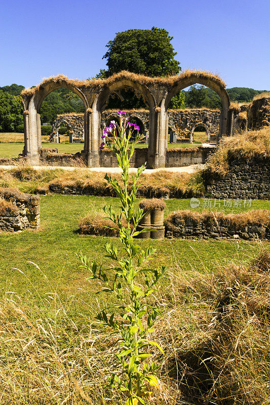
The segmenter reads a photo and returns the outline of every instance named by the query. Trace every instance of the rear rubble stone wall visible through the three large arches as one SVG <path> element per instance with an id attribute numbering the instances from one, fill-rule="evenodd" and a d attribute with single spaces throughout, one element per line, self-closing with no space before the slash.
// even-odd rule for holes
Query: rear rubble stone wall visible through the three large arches
<path id="1" fill-rule="evenodd" d="M 127 110 L 130 117 L 136 117 L 142 121 L 143 132 L 147 136 L 149 131 L 149 111 L 147 110 Z M 101 127 L 105 128 L 109 119 L 117 116 L 117 110 L 105 110 L 102 112 Z M 187 110 L 168 110 L 169 128 L 175 133 L 177 141 L 188 138 L 190 140 L 192 128 L 204 125 L 209 134 L 214 137 L 219 133 L 219 110 L 208 109 L 187 109 Z M 57 128 L 61 123 L 71 127 L 73 138 L 84 139 L 84 114 L 61 114 L 58 115 L 53 123 L 53 132 L 50 142 L 55 142 Z"/>

